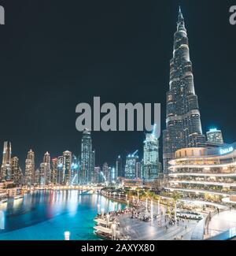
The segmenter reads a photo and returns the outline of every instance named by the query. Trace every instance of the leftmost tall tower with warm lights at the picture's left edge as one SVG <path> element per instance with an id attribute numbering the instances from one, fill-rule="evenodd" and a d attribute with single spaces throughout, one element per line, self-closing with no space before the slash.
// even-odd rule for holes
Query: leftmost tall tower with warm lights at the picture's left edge
<path id="1" fill-rule="evenodd" d="M 9 141 L 5 141 L 3 145 L 2 153 L 2 168 L 1 168 L 1 179 L 11 180 L 11 156 L 12 156 L 12 145 Z"/>

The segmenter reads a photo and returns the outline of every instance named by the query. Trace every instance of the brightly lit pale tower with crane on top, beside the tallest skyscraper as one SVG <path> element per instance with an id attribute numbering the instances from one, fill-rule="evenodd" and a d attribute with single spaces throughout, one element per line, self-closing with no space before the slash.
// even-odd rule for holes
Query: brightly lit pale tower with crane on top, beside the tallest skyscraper
<path id="1" fill-rule="evenodd" d="M 155 126 L 154 126 L 155 128 Z M 159 142 L 155 131 L 146 133 L 143 147 L 143 178 L 145 181 L 157 179 L 159 172 Z"/>

